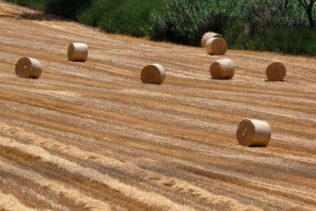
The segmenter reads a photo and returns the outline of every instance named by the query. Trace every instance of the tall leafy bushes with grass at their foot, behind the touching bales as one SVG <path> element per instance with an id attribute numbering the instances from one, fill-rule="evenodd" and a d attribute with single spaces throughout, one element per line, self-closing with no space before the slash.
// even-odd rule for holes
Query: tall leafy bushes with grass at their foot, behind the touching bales
<path id="1" fill-rule="evenodd" d="M 314 19 L 316 18 L 314 8 Z M 297 1 L 166 0 L 151 14 L 147 35 L 200 46 L 206 31 L 220 33 L 230 49 L 268 50 L 316 56 L 316 30 Z"/>

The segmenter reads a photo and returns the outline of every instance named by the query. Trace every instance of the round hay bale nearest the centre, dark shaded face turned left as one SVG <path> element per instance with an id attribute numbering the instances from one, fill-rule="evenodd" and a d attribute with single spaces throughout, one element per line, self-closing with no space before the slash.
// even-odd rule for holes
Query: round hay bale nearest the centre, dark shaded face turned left
<path id="1" fill-rule="evenodd" d="M 160 64 L 150 64 L 143 67 L 140 79 L 143 83 L 160 84 L 166 78 L 166 71 Z"/>

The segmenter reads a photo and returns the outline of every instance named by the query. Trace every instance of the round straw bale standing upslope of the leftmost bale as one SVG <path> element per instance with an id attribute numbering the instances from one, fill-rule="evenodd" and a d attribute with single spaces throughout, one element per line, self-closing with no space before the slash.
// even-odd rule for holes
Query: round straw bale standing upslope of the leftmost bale
<path id="1" fill-rule="evenodd" d="M 68 46 L 68 60 L 85 62 L 88 58 L 88 46 L 85 43 L 71 43 Z"/>

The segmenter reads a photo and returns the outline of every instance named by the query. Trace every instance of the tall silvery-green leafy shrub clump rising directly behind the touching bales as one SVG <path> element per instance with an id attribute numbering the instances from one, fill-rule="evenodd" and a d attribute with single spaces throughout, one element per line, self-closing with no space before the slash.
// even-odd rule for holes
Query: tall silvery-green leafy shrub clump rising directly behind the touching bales
<path id="1" fill-rule="evenodd" d="M 206 31 L 222 31 L 226 16 L 213 1 L 167 0 L 162 12 L 151 14 L 144 30 L 154 39 L 199 46 Z"/>

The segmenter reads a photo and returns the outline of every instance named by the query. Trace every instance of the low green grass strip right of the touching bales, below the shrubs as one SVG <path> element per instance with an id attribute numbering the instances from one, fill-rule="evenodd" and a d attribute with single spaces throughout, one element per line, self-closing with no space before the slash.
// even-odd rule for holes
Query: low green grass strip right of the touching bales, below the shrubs
<path id="1" fill-rule="evenodd" d="M 239 21 L 224 29 L 222 36 L 229 49 L 316 56 L 315 29 L 273 26 L 255 36 L 245 33 L 245 29 L 245 24 Z"/>

